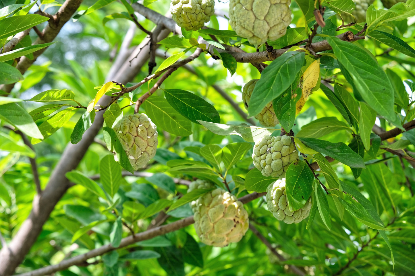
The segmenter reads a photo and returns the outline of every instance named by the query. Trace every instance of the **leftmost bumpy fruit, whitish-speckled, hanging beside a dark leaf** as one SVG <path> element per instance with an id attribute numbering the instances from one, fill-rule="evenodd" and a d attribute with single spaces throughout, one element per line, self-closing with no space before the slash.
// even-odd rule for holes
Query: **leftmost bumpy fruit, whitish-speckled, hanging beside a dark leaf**
<path id="1" fill-rule="evenodd" d="M 122 117 L 114 131 L 133 169 L 144 167 L 156 155 L 159 144 L 156 125 L 146 114 L 137 113 Z"/>

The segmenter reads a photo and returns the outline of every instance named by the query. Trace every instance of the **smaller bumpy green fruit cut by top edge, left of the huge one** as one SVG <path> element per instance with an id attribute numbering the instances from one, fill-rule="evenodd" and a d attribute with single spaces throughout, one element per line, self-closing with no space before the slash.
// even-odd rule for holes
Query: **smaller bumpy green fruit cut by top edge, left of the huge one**
<path id="1" fill-rule="evenodd" d="M 213 7 L 215 0 L 172 0 L 170 13 L 180 27 L 196 31 L 209 22 L 215 13 Z"/>

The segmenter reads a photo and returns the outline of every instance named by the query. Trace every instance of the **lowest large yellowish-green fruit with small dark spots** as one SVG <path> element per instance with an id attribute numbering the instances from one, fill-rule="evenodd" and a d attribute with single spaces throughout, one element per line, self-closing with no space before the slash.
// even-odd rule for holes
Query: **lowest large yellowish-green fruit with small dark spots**
<path id="1" fill-rule="evenodd" d="M 222 189 L 196 200 L 195 230 L 200 241 L 217 247 L 239 242 L 249 227 L 248 213 L 241 201 Z"/>

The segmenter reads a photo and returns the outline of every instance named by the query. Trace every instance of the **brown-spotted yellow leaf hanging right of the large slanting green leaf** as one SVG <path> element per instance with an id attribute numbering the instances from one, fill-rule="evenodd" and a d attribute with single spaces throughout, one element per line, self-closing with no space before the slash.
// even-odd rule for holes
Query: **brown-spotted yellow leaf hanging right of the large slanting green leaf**
<path id="1" fill-rule="evenodd" d="M 320 80 L 320 59 L 313 61 L 310 66 L 304 71 L 300 80 L 301 99 L 295 104 L 295 115 L 300 113 L 303 109 L 305 101 L 311 93 L 311 90 L 317 85 Z"/>

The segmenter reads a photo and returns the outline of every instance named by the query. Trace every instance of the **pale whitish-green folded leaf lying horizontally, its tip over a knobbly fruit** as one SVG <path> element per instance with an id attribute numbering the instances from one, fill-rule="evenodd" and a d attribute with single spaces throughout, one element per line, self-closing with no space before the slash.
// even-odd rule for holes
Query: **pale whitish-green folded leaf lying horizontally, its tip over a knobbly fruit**
<path id="1" fill-rule="evenodd" d="M 206 121 L 198 121 L 205 128 L 209 129 L 217 135 L 238 135 L 241 136 L 247 142 L 255 142 L 256 140 L 271 135 L 277 129 L 269 129 L 264 127 L 249 126 L 246 123 L 239 125 L 222 124 L 222 123 L 211 123 Z"/>

